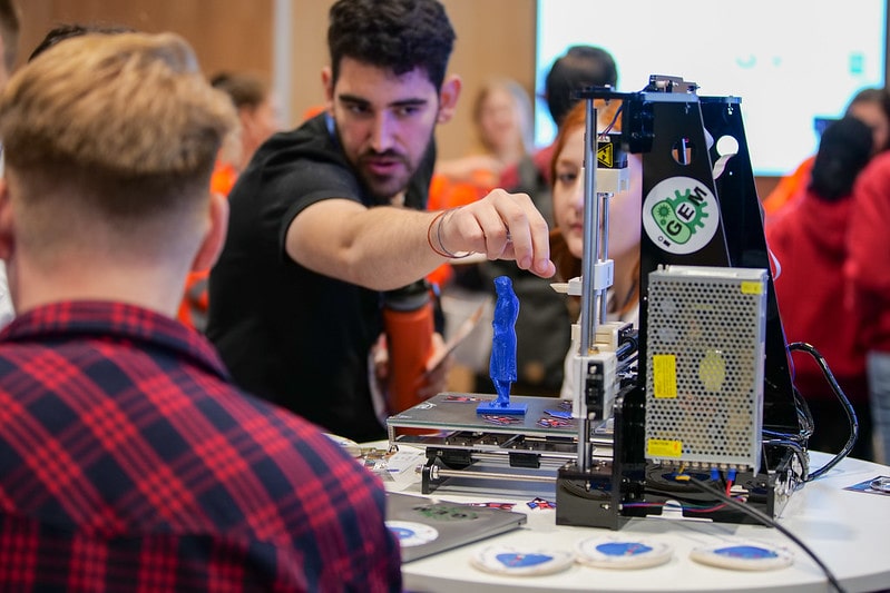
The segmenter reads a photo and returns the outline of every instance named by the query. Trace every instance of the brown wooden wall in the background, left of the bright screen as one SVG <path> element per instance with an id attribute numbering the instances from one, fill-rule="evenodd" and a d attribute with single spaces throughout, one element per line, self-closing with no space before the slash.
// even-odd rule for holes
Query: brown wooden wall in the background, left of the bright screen
<path id="1" fill-rule="evenodd" d="M 278 0 L 281 1 L 281 0 Z M 291 51 L 282 56 L 290 78 L 284 100 L 291 122 L 323 102 L 321 69 L 327 65 L 325 33 L 333 0 L 291 1 Z M 63 22 L 126 24 L 145 31 L 175 31 L 195 48 L 207 73 L 223 68 L 272 76 L 275 0 L 20 0 L 21 60 L 46 32 Z M 454 157 L 472 150 L 470 106 L 492 75 L 511 77 L 534 93 L 536 0 L 444 0 L 458 33 L 450 72 L 463 92 L 454 119 L 438 130 L 439 150 Z M 284 28 L 287 31 L 287 27 Z M 286 90 L 286 87 L 285 87 Z"/>

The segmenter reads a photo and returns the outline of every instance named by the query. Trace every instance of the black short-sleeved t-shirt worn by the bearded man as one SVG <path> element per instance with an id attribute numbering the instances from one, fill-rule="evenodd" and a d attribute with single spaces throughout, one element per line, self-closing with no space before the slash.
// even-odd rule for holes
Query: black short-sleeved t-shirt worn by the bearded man
<path id="1" fill-rule="evenodd" d="M 430 142 L 407 206 L 426 206 L 434 162 Z M 383 327 L 381 294 L 311 271 L 285 251 L 291 221 L 330 198 L 373 206 L 326 115 L 257 150 L 229 195 L 228 236 L 211 273 L 207 336 L 246 391 L 329 432 L 372 441 L 385 435 L 368 378 L 368 354 Z"/>

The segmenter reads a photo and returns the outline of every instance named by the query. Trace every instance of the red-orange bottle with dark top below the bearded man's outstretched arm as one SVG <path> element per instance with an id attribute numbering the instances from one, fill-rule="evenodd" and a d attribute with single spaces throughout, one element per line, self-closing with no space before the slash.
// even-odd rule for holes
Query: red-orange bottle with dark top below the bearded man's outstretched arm
<path id="1" fill-rule="evenodd" d="M 433 304 L 430 288 L 418 280 L 383 296 L 383 327 L 389 349 L 390 414 L 421 402 L 418 389 L 432 355 Z"/>

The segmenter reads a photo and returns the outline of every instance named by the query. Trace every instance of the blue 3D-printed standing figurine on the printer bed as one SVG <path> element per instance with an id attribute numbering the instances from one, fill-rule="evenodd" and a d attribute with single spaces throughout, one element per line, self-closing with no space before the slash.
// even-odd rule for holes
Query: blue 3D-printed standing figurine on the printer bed
<path id="1" fill-rule="evenodd" d="M 495 304 L 495 337 L 491 339 L 491 363 L 489 374 L 498 398 L 483 402 L 476 408 L 477 414 L 525 414 L 526 404 L 510 404 L 510 386 L 516 375 L 516 318 L 519 316 L 519 299 L 514 293 L 509 277 L 495 278 L 498 300 Z"/>

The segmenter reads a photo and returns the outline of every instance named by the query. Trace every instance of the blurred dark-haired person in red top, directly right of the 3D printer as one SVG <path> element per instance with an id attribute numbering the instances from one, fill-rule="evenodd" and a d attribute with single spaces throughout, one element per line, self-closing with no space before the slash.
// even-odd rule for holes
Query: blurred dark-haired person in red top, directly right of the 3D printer
<path id="1" fill-rule="evenodd" d="M 871 411 L 859 328 L 854 315 L 844 309 L 843 265 L 851 191 L 872 148 L 872 130 L 860 119 L 845 116 L 829 125 L 810 182 L 765 226 L 766 243 L 777 261 L 775 296 L 785 338 L 811 344 L 825 358 L 859 418 L 859 439 L 851 455 L 863 459 L 872 458 Z M 809 354 L 794 350 L 792 360 L 794 386 L 813 415 L 810 448 L 841 451 L 850 426 L 840 399 Z"/>

